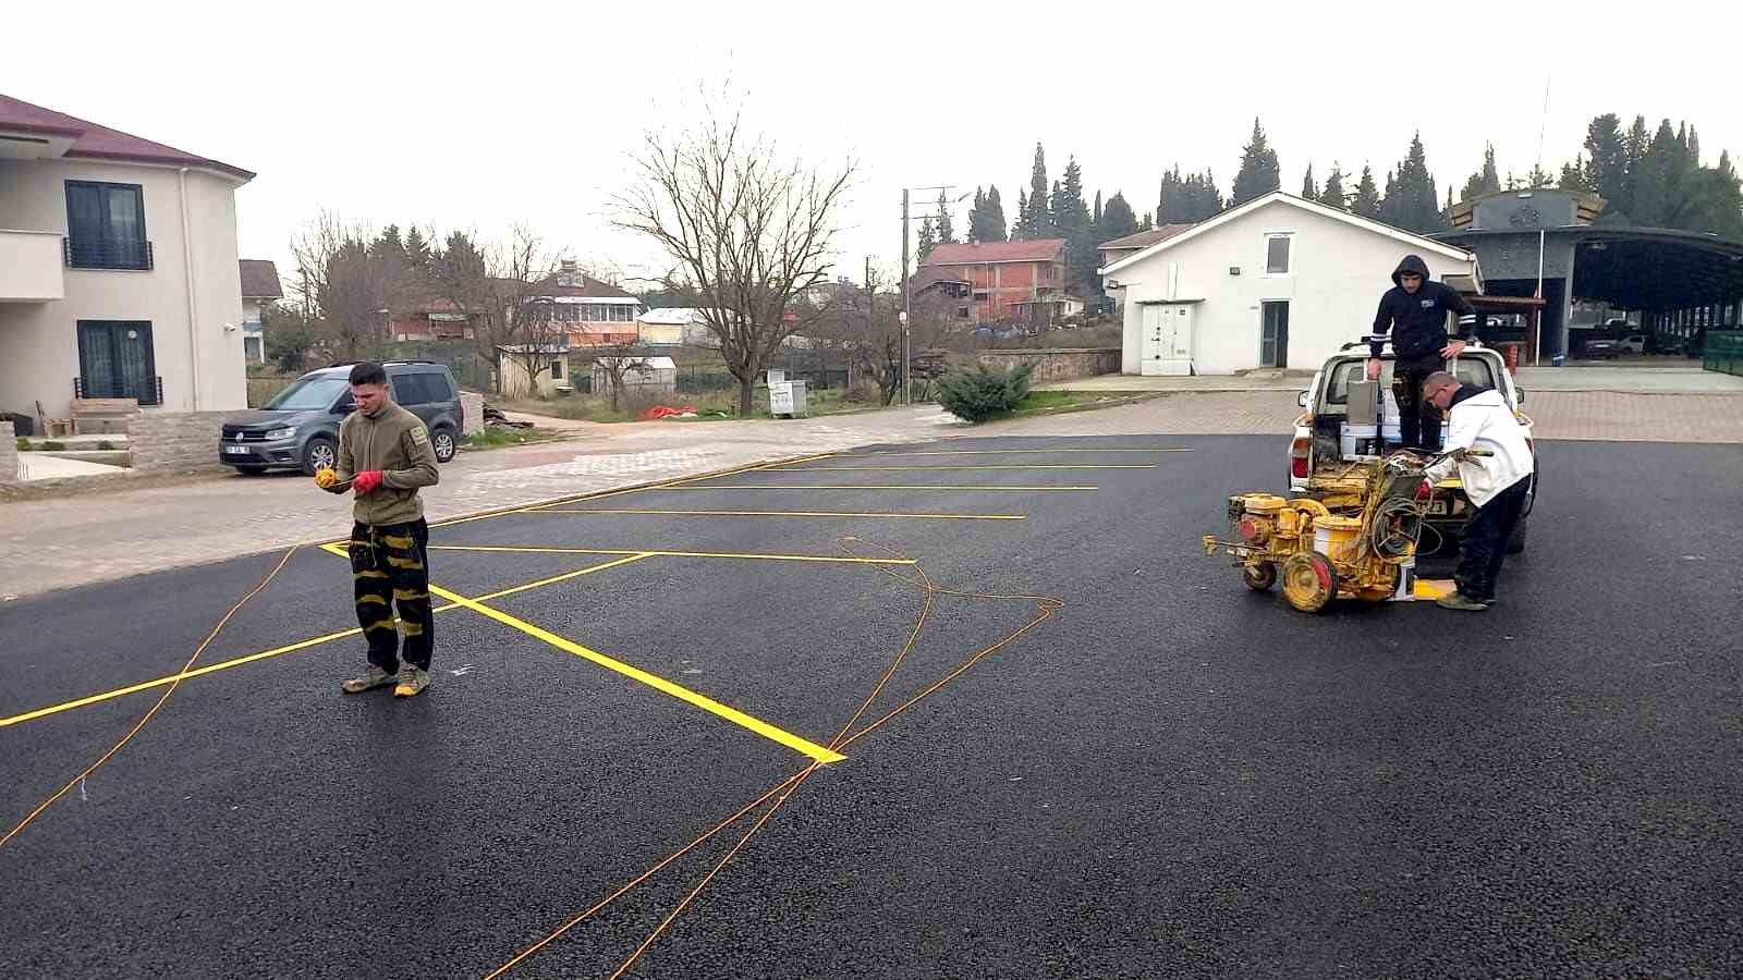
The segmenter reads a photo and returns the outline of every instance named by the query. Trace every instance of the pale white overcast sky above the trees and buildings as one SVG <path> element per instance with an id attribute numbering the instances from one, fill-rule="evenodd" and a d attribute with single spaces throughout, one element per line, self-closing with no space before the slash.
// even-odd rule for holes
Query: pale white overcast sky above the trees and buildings
<path id="1" fill-rule="evenodd" d="M 1417 129 L 1441 195 L 1487 140 L 1502 176 L 1525 174 L 1543 129 L 1558 169 L 1604 112 L 1687 119 L 1708 164 L 1743 150 L 1743 14 L 1726 3 L 1659 2 L 1649 21 L 1555 7 L 1518 30 L 1516 2 L 105 7 L 14 5 L 0 92 L 256 171 L 242 256 L 286 279 L 319 209 L 485 237 L 523 221 L 584 263 L 657 272 L 610 199 L 641 133 L 723 80 L 784 152 L 858 162 L 840 237 L 856 277 L 866 255 L 899 263 L 905 185 L 997 183 L 1014 220 L 1037 140 L 1049 178 L 1075 155 L 1086 197 L 1124 190 L 1140 214 L 1175 162 L 1227 194 L 1255 115 L 1288 192 L 1309 162 L 1319 180 L 1370 164 L 1384 185 Z"/>

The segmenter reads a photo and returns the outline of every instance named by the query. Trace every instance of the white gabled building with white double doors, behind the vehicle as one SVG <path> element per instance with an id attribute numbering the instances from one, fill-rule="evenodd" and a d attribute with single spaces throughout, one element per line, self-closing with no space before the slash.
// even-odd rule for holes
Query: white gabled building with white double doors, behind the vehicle
<path id="1" fill-rule="evenodd" d="M 1480 282 L 1455 246 L 1271 192 L 1100 269 L 1124 310 L 1126 375 L 1318 368 L 1373 328 L 1405 255 Z"/>

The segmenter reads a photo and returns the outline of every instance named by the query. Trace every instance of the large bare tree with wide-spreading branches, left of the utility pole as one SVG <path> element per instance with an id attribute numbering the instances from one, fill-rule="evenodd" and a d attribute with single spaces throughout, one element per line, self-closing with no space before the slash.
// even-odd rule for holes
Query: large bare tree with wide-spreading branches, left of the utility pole
<path id="1" fill-rule="evenodd" d="M 833 267 L 837 211 L 854 164 L 821 173 L 781 160 L 770 141 L 741 133 L 737 113 L 704 115 L 675 136 L 647 133 L 634 157 L 640 178 L 619 197 L 615 225 L 647 234 L 673 258 L 666 288 L 697 296 L 748 415 L 763 364 L 817 316 L 793 300 Z"/>

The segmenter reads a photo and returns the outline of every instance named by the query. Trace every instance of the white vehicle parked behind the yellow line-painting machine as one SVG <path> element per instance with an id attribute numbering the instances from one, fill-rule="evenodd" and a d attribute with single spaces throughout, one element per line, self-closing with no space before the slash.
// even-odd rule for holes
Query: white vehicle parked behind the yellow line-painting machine
<path id="1" fill-rule="evenodd" d="M 1340 471 L 1342 464 L 1367 459 L 1365 453 L 1372 452 L 1373 446 L 1360 445 L 1360 439 L 1349 427 L 1349 384 L 1367 377 L 1367 364 L 1368 345 L 1347 344 L 1344 350 L 1325 361 L 1319 371 L 1314 373 L 1311 387 L 1297 398 L 1297 403 L 1306 412 L 1295 420 L 1295 436 L 1290 441 L 1288 487 L 1292 493 L 1318 493 L 1328 481 L 1328 474 Z M 1541 476 L 1537 446 L 1530 434 L 1532 422 L 1523 412 L 1525 389 L 1513 384 L 1513 375 L 1508 373 L 1501 354 L 1482 344 L 1466 347 L 1454 363 L 1452 371 L 1462 384 L 1476 384 L 1499 391 L 1508 406 L 1513 408 L 1513 415 L 1520 420 L 1520 425 L 1525 425 L 1525 443 L 1532 446 L 1534 473 L 1525 495 L 1525 511 L 1513 530 L 1513 537 L 1508 541 L 1508 551 L 1520 553 L 1525 549 L 1525 514 L 1530 514 L 1537 500 L 1537 480 Z M 1391 389 L 1393 354 L 1387 350 L 1380 356 L 1380 394 L 1384 398 L 1380 439 L 1387 450 L 1396 448 L 1401 439 L 1398 401 L 1393 398 Z M 1447 424 L 1441 422 L 1441 439 L 1445 439 L 1445 432 Z M 1335 476 L 1330 478 L 1335 480 Z M 1454 476 L 1441 480 L 1434 487 L 1424 523 L 1434 528 L 1443 541 L 1452 541 L 1459 537 L 1469 516 L 1471 502 L 1464 495 L 1464 487 L 1459 483 L 1457 473 L 1454 473 Z"/>

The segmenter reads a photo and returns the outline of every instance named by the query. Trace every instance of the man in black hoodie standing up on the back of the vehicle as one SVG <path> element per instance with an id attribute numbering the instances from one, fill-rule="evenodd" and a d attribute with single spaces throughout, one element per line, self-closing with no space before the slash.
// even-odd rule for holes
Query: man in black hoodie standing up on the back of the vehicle
<path id="1" fill-rule="evenodd" d="M 1393 335 L 1393 396 L 1398 399 L 1398 436 L 1405 448 L 1436 452 L 1440 448 L 1440 410 L 1422 398 L 1422 382 L 1447 370 L 1475 335 L 1459 324 L 1459 337 L 1447 338 L 1447 314 L 1476 317 L 1471 303 L 1455 289 L 1428 277 L 1428 263 L 1407 255 L 1393 272 L 1393 288 L 1380 296 L 1373 317 L 1373 335 Z M 1380 378 L 1384 340 L 1368 342 L 1368 380 Z"/>

